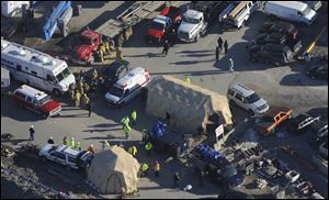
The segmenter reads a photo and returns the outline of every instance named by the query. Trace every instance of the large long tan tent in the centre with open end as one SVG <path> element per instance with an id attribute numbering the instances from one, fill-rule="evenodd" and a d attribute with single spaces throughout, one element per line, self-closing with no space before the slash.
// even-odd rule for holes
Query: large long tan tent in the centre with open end
<path id="1" fill-rule="evenodd" d="M 231 124 L 231 113 L 225 96 L 188 84 L 171 76 L 154 78 L 149 86 L 146 112 L 166 118 L 188 131 L 205 127 L 208 115 L 218 113 L 224 125 Z"/>

